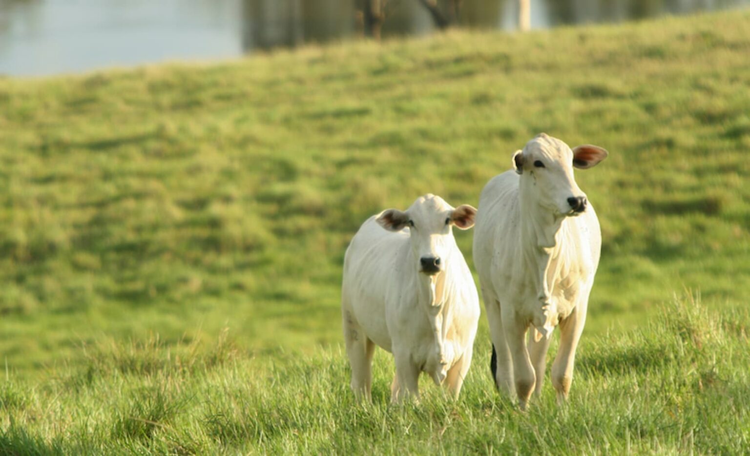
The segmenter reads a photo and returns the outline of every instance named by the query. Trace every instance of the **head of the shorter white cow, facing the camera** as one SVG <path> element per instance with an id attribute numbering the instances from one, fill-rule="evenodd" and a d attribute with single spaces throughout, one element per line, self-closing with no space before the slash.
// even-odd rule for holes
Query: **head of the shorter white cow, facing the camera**
<path id="1" fill-rule="evenodd" d="M 427 194 L 419 196 L 406 211 L 383 211 L 377 223 L 389 231 L 408 228 L 416 269 L 425 275 L 435 275 L 446 268 L 455 247 L 452 227 L 471 228 L 475 214 L 476 209 L 470 205 L 453 208 L 440 196 Z"/>

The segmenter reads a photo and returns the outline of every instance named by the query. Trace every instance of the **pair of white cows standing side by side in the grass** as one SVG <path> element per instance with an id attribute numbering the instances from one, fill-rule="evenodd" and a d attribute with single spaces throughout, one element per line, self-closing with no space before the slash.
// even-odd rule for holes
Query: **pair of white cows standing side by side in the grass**
<path id="1" fill-rule="evenodd" d="M 573 168 L 605 157 L 598 146 L 571 150 L 541 133 L 515 152 L 514 170 L 487 183 L 478 209 L 452 208 L 428 194 L 406 211 L 388 209 L 365 221 L 347 248 L 342 285 L 355 395 L 371 399 L 377 345 L 395 359 L 392 401 L 419 397 L 422 372 L 458 396 L 471 364 L 479 300 L 452 226 L 476 223 L 474 263 L 496 387 L 515 392 L 525 409 L 532 392 L 541 392 L 550 335 L 559 326 L 552 383 L 564 401 L 601 250 L 596 214 Z"/>

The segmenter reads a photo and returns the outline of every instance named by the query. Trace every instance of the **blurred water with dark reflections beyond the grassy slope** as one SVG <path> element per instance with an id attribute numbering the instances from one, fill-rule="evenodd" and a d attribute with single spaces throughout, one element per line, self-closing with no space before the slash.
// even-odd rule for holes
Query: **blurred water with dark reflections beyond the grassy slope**
<path id="1" fill-rule="evenodd" d="M 362 0 L 0 0 L 0 74 L 41 76 L 212 60 L 362 36 Z M 441 0 L 446 1 L 446 0 Z M 383 37 L 432 33 L 418 0 L 389 0 Z M 463 0 L 458 23 L 516 28 L 517 0 Z M 532 28 L 746 7 L 750 0 L 531 0 Z"/>

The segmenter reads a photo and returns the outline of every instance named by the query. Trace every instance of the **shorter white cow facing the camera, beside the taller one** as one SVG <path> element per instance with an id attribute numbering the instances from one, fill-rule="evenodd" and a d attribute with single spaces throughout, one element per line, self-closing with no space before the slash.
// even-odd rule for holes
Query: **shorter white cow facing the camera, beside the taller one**
<path id="1" fill-rule="evenodd" d="M 458 397 L 471 364 L 479 320 L 474 280 L 452 226 L 469 229 L 476 209 L 452 208 L 431 194 L 406 211 L 368 218 L 344 257 L 341 314 L 352 368 L 352 389 L 371 400 L 375 345 L 393 353 L 391 401 L 419 398 L 427 373 Z"/>

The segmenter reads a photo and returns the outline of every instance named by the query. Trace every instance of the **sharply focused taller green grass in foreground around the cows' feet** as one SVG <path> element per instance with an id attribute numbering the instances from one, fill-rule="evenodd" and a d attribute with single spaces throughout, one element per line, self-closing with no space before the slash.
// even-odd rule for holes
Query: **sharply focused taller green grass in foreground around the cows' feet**
<path id="1" fill-rule="evenodd" d="M 125 345 L 42 386 L 6 382 L 0 452 L 739 454 L 750 445 L 748 328 L 747 312 L 679 296 L 639 329 L 584 338 L 569 403 L 556 406 L 547 380 L 528 413 L 495 392 L 486 332 L 458 401 L 423 378 L 422 401 L 401 406 L 388 405 L 382 351 L 373 404 L 358 405 L 338 347 L 261 357 L 231 338 L 200 353 Z M 133 357 L 151 362 L 134 368 Z"/>

